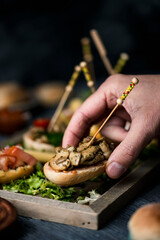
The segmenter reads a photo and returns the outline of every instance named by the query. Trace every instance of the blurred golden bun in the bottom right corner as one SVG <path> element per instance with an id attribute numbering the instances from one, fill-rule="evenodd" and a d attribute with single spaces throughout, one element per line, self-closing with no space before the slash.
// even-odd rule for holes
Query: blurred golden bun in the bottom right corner
<path id="1" fill-rule="evenodd" d="M 150 203 L 139 208 L 128 222 L 133 240 L 160 239 L 160 203 Z"/>

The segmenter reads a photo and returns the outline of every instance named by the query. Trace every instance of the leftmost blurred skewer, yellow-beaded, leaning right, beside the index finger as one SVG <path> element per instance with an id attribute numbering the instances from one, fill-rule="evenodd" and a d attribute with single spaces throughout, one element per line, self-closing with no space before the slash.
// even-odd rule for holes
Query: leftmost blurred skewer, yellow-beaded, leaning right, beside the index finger
<path id="1" fill-rule="evenodd" d="M 75 83 L 76 83 L 76 81 L 77 81 L 77 79 L 80 75 L 80 72 L 81 72 L 81 67 L 80 66 L 75 66 L 74 72 L 71 76 L 71 79 L 69 80 L 69 83 L 65 88 L 65 92 L 64 92 L 64 94 L 63 94 L 63 96 L 62 96 L 62 98 L 61 98 L 61 100 L 58 104 L 58 107 L 57 107 L 53 117 L 51 118 L 50 123 L 49 123 L 49 126 L 48 126 L 48 131 L 49 132 L 54 131 L 54 126 L 55 126 L 55 124 L 56 124 L 56 122 L 57 122 L 57 120 L 58 120 L 58 118 L 59 118 L 59 116 L 60 116 L 60 114 L 63 110 L 63 107 L 64 107 L 70 93 L 72 92 L 72 89 L 73 89 L 73 87 L 74 87 L 74 85 L 75 85 Z"/>

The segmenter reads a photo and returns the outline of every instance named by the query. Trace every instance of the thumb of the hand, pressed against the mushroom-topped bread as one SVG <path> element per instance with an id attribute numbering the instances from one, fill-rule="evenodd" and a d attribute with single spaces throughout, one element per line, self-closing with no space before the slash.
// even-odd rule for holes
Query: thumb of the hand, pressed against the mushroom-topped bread
<path id="1" fill-rule="evenodd" d="M 144 119 L 134 120 L 125 139 L 111 154 L 106 166 L 109 177 L 119 178 L 152 139 L 151 132 L 147 130 L 148 124 L 144 122 Z"/>

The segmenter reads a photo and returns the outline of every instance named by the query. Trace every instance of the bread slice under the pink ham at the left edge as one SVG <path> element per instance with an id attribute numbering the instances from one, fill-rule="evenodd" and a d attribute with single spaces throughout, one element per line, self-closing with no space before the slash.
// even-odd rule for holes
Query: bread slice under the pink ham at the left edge
<path id="1" fill-rule="evenodd" d="M 0 183 L 9 183 L 11 180 L 22 178 L 30 175 L 34 170 L 34 166 L 25 165 L 16 169 L 10 169 L 8 171 L 0 170 Z"/>

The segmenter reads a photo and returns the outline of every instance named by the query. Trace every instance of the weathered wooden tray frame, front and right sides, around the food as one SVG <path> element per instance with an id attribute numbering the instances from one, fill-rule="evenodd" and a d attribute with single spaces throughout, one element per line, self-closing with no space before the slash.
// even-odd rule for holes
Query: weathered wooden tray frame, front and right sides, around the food
<path id="1" fill-rule="evenodd" d="M 4 190 L 0 197 L 10 201 L 21 216 L 97 230 L 151 181 L 158 167 L 159 158 L 142 162 L 89 206 Z"/>

